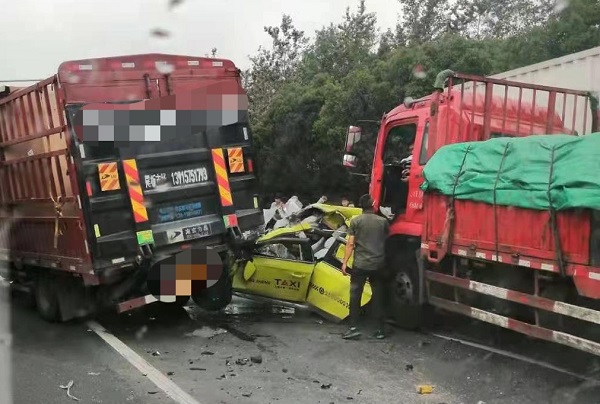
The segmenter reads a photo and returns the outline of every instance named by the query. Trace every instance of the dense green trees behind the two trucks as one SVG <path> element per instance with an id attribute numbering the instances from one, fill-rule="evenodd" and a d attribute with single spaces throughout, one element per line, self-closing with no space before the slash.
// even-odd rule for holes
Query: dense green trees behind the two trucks
<path id="1" fill-rule="evenodd" d="M 489 75 L 600 45 L 598 0 L 549 1 L 403 0 L 396 31 L 379 35 L 361 0 L 310 43 L 288 16 L 266 27 L 272 49 L 245 75 L 262 191 L 357 198 L 368 184 L 341 164 L 349 125 L 430 93 L 443 69 Z M 368 174 L 378 125 L 359 126 L 358 171 Z"/>

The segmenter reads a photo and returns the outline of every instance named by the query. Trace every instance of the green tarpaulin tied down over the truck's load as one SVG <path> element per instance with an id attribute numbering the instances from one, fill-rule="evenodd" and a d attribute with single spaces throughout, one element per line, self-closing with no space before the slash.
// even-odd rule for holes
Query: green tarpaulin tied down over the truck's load
<path id="1" fill-rule="evenodd" d="M 600 209 L 600 133 L 537 135 L 440 148 L 425 192 L 529 209 Z"/>

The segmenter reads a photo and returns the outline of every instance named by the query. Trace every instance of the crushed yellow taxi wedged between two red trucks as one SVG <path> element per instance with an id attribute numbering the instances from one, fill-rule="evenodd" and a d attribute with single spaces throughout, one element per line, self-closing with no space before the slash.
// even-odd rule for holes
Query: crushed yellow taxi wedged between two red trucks
<path id="1" fill-rule="evenodd" d="M 303 304 L 327 318 L 349 314 L 350 277 L 341 272 L 347 227 L 361 209 L 309 205 L 287 227 L 258 237 L 232 268 L 236 294 Z M 348 263 L 352 267 L 352 258 Z M 361 304 L 371 300 L 365 286 Z"/>

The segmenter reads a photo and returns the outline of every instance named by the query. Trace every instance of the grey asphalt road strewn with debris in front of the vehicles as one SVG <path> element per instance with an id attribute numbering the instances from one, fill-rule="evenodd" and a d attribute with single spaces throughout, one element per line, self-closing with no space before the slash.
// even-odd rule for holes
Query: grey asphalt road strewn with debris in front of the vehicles
<path id="1" fill-rule="evenodd" d="M 59 388 L 70 380 L 81 403 L 175 402 L 85 322 L 47 324 L 21 304 L 12 316 L 14 404 L 75 402 Z M 97 322 L 201 404 L 600 402 L 597 383 L 537 365 L 399 329 L 343 341 L 341 324 L 245 302 L 229 314 L 155 305 Z M 575 368 L 596 361 L 572 357 Z"/>

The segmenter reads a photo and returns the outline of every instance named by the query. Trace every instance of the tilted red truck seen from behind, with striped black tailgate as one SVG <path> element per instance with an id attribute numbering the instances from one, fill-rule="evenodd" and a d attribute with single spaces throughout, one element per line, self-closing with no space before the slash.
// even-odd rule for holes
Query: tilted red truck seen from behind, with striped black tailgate
<path id="1" fill-rule="evenodd" d="M 43 318 L 156 302 L 147 288 L 155 265 L 195 248 L 226 262 L 242 232 L 263 223 L 247 95 L 231 61 L 69 61 L 0 91 L 0 259 Z M 218 309 L 230 289 L 225 268 L 191 297 Z"/>

